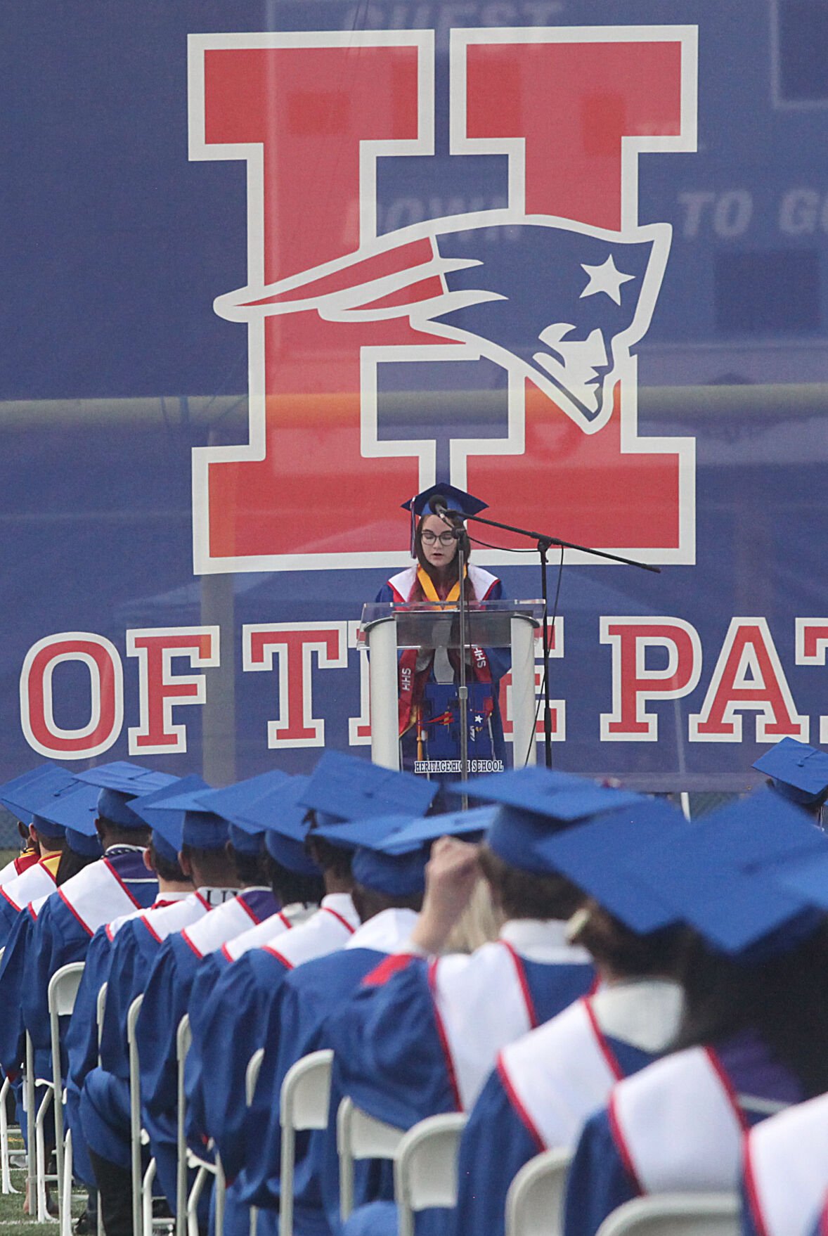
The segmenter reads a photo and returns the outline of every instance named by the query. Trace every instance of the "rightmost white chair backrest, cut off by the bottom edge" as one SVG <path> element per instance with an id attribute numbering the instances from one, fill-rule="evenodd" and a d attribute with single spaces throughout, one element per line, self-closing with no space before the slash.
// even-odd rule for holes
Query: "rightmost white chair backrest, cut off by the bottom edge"
<path id="1" fill-rule="evenodd" d="M 635 1198 L 604 1219 L 598 1236 L 739 1236 L 737 1193 L 662 1193 Z"/>

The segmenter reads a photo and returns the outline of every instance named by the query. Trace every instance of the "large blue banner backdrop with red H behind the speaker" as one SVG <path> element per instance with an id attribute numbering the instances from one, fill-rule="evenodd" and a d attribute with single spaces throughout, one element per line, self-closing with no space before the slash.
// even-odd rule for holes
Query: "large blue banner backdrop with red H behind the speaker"
<path id="1" fill-rule="evenodd" d="M 565 556 L 559 766 L 828 738 L 826 6 L 623 9 L 5 6 L 1 777 L 367 754 L 435 480 L 662 567 Z"/>

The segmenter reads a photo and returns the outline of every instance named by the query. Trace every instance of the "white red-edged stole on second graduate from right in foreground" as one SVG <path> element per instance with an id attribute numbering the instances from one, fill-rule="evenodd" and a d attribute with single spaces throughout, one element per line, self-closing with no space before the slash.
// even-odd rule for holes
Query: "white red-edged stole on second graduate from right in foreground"
<path id="1" fill-rule="evenodd" d="M 619 1082 L 609 1125 L 640 1193 L 737 1188 L 746 1120 L 709 1047 L 676 1052 Z"/>

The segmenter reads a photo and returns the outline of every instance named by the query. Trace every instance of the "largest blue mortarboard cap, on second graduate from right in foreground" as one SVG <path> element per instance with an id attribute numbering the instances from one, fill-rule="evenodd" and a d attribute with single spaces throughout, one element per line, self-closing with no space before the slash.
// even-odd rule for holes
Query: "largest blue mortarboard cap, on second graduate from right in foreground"
<path id="1" fill-rule="evenodd" d="M 759 960 L 816 928 L 808 899 L 774 873 L 792 855 L 824 847 L 828 838 L 805 812 L 760 790 L 665 837 L 639 879 L 714 948 Z"/>

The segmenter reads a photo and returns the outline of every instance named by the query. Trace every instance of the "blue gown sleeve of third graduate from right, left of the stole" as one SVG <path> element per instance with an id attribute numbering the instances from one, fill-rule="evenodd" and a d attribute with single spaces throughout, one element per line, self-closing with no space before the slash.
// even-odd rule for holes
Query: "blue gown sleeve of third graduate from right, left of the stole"
<path id="1" fill-rule="evenodd" d="M 524 1163 L 545 1147 L 520 1119 L 494 1069 L 460 1141 L 455 1236 L 503 1236 L 505 1195 Z"/>

